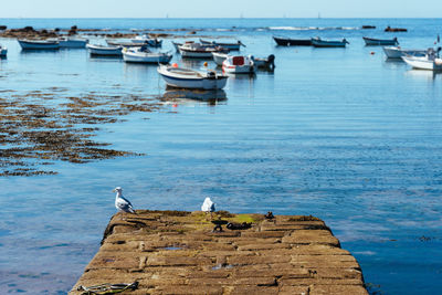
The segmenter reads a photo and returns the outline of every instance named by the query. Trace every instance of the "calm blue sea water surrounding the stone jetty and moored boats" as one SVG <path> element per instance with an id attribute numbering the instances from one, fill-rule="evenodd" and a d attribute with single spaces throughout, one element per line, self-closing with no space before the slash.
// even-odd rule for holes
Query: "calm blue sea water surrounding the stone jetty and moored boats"
<path id="1" fill-rule="evenodd" d="M 0 178 L 2 292 L 66 293 L 98 250 L 115 213 L 110 190 L 122 186 L 139 209 L 199 210 L 210 196 L 219 210 L 314 214 L 356 256 L 373 292 L 440 293 L 442 75 L 386 61 L 361 36 L 398 36 L 404 48 L 429 48 L 442 33 L 441 19 L 0 19 L 0 24 L 203 29 L 198 33 L 240 39 L 245 53 L 276 56 L 273 74 L 230 78 L 227 101 L 217 105 L 166 103 L 161 112 L 101 126 L 98 140 L 146 156 L 57 162 L 51 167 L 57 176 Z M 362 24 L 377 29 L 358 30 Z M 409 32 L 385 33 L 387 25 Z M 274 34 L 346 38 L 350 44 L 277 48 Z M 9 48 L 0 61 L 0 89 L 166 93 L 156 66 L 91 59 L 83 50 L 23 53 L 14 40 L 0 42 Z M 165 49 L 171 50 L 169 41 Z M 172 62 L 203 63 L 179 55 Z"/>

